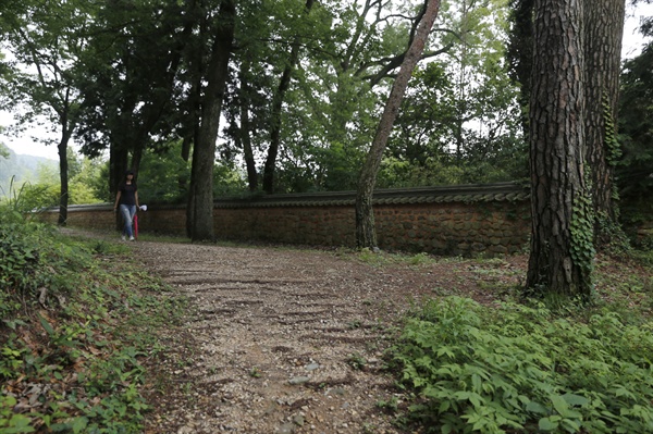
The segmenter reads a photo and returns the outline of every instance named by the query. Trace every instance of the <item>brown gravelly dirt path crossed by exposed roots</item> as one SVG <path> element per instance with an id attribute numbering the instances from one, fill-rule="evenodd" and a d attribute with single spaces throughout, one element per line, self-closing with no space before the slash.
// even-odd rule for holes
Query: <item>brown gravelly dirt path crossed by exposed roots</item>
<path id="1" fill-rule="evenodd" d="M 167 331 L 175 349 L 150 367 L 151 434 L 402 433 L 381 405 L 402 401 L 382 370 L 387 327 L 469 271 L 263 247 L 134 249 L 197 312 Z"/>

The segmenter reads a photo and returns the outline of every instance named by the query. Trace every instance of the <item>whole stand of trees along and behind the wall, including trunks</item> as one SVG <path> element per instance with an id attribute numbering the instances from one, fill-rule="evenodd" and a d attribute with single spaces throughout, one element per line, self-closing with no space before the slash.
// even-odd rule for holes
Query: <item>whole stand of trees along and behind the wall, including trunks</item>
<path id="1" fill-rule="evenodd" d="M 621 67 L 626 0 L 1 4 L 0 98 L 60 134 L 61 224 L 72 139 L 108 158 L 107 199 L 134 169 L 186 201 L 194 240 L 217 194 L 522 181 L 527 286 L 587 296 L 616 199 L 650 202 L 653 46 Z"/>

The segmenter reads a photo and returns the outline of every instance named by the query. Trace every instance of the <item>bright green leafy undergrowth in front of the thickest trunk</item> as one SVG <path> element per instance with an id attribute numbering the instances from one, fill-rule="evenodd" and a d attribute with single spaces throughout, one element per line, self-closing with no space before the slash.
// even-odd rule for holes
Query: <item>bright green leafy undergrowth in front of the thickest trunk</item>
<path id="1" fill-rule="evenodd" d="M 652 332 L 650 318 L 609 305 L 427 300 L 391 351 L 412 397 L 399 422 L 427 433 L 651 433 Z"/>

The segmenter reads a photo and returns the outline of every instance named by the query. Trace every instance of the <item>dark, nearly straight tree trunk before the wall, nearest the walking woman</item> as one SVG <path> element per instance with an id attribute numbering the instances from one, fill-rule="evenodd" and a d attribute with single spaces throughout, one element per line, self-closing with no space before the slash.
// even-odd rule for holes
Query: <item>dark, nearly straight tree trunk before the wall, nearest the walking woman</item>
<path id="1" fill-rule="evenodd" d="M 201 106 L 199 137 L 193 151 L 190 196 L 187 214 L 188 236 L 192 240 L 213 240 L 213 165 L 215 141 L 220 127 L 222 99 L 229 77 L 229 59 L 232 51 L 235 22 L 233 0 L 224 0 L 220 7 L 219 28 L 213 41 L 207 73 L 207 89 Z"/>

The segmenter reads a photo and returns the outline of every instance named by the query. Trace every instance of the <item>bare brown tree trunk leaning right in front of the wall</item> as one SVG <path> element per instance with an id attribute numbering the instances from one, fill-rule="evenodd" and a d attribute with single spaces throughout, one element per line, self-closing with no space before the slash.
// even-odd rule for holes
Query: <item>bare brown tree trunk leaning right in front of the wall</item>
<path id="1" fill-rule="evenodd" d="M 421 53 L 429 38 L 429 33 L 438 17 L 440 10 L 440 0 L 427 0 L 426 12 L 419 23 L 415 38 L 406 52 L 404 62 L 397 74 L 397 78 L 392 85 L 390 97 L 385 103 L 385 109 L 379 122 L 379 127 L 374 135 L 372 146 L 368 152 L 365 164 L 358 178 L 358 190 L 356 193 L 356 243 L 359 248 L 377 247 L 377 233 L 374 231 L 374 212 L 372 210 L 372 195 L 374 184 L 377 183 L 377 173 L 383 159 L 383 151 L 387 144 L 387 138 L 392 126 L 397 116 L 397 111 L 402 106 L 408 79 L 412 74 L 415 65 L 419 61 Z"/>

